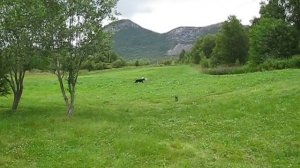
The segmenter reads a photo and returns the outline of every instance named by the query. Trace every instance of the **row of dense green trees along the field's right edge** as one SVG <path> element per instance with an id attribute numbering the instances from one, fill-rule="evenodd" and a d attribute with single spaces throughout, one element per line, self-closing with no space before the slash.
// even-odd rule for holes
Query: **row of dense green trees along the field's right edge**
<path id="1" fill-rule="evenodd" d="M 203 67 L 258 66 L 269 59 L 287 59 L 300 53 L 300 3 L 298 0 L 267 0 L 261 3 L 260 18 L 243 26 L 229 16 L 217 35 L 199 39 L 179 62 Z"/>

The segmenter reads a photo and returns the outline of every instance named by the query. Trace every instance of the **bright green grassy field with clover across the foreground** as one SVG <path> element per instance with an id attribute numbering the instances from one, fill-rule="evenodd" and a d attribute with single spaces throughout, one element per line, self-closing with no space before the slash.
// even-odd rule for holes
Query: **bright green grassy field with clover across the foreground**
<path id="1" fill-rule="evenodd" d="M 72 119 L 55 76 L 32 73 L 18 112 L 11 101 L 0 98 L 0 167 L 300 166 L 300 70 L 83 73 Z"/>

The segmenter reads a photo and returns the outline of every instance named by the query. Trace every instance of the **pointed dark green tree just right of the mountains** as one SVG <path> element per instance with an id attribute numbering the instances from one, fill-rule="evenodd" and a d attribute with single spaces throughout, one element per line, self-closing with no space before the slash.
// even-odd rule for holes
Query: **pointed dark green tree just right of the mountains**
<path id="1" fill-rule="evenodd" d="M 248 48 L 248 35 L 244 26 L 235 16 L 229 16 L 217 36 L 212 63 L 233 65 L 238 60 L 241 64 L 245 64 Z"/>

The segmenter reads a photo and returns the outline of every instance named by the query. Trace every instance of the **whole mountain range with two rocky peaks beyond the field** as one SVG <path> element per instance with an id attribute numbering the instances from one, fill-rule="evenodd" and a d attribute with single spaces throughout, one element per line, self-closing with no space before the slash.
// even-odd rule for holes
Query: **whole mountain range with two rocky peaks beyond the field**
<path id="1" fill-rule="evenodd" d="M 113 50 L 127 60 L 157 60 L 190 50 L 195 41 L 207 34 L 216 34 L 221 23 L 207 27 L 179 27 L 167 33 L 147 30 L 131 20 L 119 20 L 105 26 L 113 34 Z"/>

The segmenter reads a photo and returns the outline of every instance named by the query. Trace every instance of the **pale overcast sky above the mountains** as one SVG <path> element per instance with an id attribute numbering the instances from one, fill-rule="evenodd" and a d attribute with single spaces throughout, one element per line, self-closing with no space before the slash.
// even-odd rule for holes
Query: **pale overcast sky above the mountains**
<path id="1" fill-rule="evenodd" d="M 259 16 L 261 0 L 119 0 L 120 19 L 164 33 L 179 26 L 208 26 L 236 15 L 243 24 Z"/>

